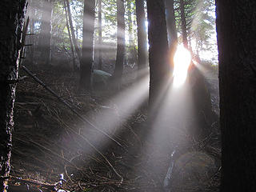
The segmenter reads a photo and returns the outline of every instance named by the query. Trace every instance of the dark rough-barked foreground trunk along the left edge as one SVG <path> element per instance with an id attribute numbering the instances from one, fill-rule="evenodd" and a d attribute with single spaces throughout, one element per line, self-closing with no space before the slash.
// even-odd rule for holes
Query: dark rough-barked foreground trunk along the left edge
<path id="1" fill-rule="evenodd" d="M 26 0 L 0 1 L 0 176 L 10 173 L 12 131 L 14 129 L 15 80 Z M 6 180 L 0 180 L 0 191 L 6 191 Z"/>

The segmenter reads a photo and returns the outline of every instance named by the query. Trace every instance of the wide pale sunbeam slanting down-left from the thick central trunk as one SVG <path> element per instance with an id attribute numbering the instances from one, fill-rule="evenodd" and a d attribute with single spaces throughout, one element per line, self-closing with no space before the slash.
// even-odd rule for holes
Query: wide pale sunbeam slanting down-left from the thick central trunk
<path id="1" fill-rule="evenodd" d="M 106 106 L 103 106 L 106 110 L 102 110 L 102 113 L 96 114 L 97 116 L 94 117 L 93 122 L 96 126 L 110 135 L 121 131 L 119 128 L 122 127 L 122 122 L 125 122 L 130 115 L 134 114 L 148 96 L 149 74 L 143 74 L 136 84 L 129 86 L 126 90 L 122 90 L 106 101 Z M 111 112 L 111 107 L 108 107 L 111 101 L 115 103 L 113 109 L 115 112 Z M 82 134 L 87 131 L 86 127 L 82 127 L 80 130 Z M 108 143 L 107 138 L 102 134 L 94 135 L 93 141 L 97 143 L 99 150 Z M 90 149 L 86 150 L 90 151 Z M 83 152 L 88 153 L 88 151 L 84 150 Z"/>

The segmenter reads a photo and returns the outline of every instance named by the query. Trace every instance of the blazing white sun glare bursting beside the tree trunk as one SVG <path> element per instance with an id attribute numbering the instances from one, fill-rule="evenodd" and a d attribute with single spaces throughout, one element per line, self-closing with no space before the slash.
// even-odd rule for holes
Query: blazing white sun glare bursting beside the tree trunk
<path id="1" fill-rule="evenodd" d="M 174 54 L 174 86 L 182 86 L 186 81 L 188 68 L 191 62 L 190 51 L 184 46 L 178 46 Z"/>

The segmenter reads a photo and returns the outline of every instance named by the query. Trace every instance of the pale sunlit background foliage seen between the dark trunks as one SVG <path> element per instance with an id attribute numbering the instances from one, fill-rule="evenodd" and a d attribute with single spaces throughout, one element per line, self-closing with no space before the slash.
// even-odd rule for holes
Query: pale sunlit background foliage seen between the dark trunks
<path id="1" fill-rule="evenodd" d="M 166 18 L 169 17 L 171 11 L 170 2 L 166 3 Z M 138 52 L 135 1 L 125 1 L 124 6 L 126 39 L 124 66 L 133 68 L 137 66 Z M 145 7 L 146 12 L 146 4 L 142 6 Z M 95 11 L 95 18 L 90 18 L 94 20 L 94 69 L 106 70 L 112 74 L 117 51 L 116 1 L 96 1 L 92 9 Z M 186 41 L 193 53 L 202 60 L 217 64 L 214 1 L 184 1 L 183 9 L 185 23 L 182 23 L 180 2 L 174 1 L 178 42 L 182 43 L 182 25 L 185 25 Z M 31 0 L 26 15 L 30 17 L 28 31 L 34 34 L 27 38 L 27 42 L 33 44 L 33 46 L 26 47 L 27 60 L 35 62 L 35 65 L 51 64 L 63 68 L 78 68 L 80 65 L 78 53 L 82 51 L 84 2 L 70 1 L 66 5 L 64 1 Z M 147 30 L 147 25 L 148 22 L 144 20 L 145 30 Z M 170 24 L 167 22 L 168 25 Z M 42 47 L 48 50 L 42 51 Z M 44 57 L 42 57 L 42 52 Z"/>

